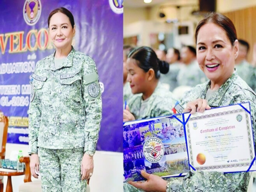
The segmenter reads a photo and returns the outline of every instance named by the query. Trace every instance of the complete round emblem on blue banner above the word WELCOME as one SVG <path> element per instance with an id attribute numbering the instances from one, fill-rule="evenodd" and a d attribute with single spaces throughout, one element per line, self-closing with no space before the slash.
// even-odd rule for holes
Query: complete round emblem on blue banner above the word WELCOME
<path id="1" fill-rule="evenodd" d="M 23 6 L 23 18 L 26 24 L 32 26 L 37 23 L 41 15 L 40 0 L 26 0 Z"/>

